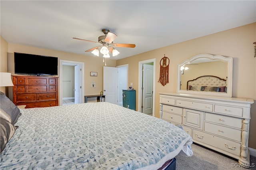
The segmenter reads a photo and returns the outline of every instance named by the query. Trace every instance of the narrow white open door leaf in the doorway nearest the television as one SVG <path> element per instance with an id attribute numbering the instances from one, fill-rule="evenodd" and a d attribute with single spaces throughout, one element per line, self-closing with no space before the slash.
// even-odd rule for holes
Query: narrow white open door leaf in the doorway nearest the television
<path id="1" fill-rule="evenodd" d="M 80 77 L 81 71 L 82 71 L 81 66 L 76 65 L 75 66 L 75 85 L 74 85 L 74 87 L 75 87 L 75 89 L 74 89 L 75 104 L 82 103 L 82 98 L 81 98 L 82 95 L 80 95 L 81 92 L 82 92 L 82 85 L 81 85 L 82 84 L 82 79 Z"/>

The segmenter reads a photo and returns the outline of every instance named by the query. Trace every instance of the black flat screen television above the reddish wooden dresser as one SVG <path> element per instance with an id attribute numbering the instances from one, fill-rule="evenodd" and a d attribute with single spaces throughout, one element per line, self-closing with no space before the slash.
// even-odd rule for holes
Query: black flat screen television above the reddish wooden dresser
<path id="1" fill-rule="evenodd" d="M 58 75 L 58 57 L 14 52 L 14 73 Z"/>

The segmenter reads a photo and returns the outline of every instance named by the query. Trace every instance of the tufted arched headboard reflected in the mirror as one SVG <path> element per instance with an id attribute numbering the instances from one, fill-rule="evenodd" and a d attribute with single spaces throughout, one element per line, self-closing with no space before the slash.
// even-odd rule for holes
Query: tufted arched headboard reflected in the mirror
<path id="1" fill-rule="evenodd" d="M 226 80 L 214 75 L 203 75 L 187 81 L 187 90 L 226 93 Z"/>

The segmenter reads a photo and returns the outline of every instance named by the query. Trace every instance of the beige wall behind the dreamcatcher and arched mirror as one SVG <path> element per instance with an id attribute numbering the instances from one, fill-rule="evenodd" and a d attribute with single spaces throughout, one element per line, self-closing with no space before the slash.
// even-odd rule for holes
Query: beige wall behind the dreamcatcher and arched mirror
<path id="1" fill-rule="evenodd" d="M 256 58 L 254 58 L 254 44 L 256 41 L 256 23 L 248 24 L 231 30 L 218 32 L 208 36 L 177 43 L 153 51 L 148 51 L 129 58 L 120 59 L 117 65 L 129 64 L 128 84 L 133 83 L 138 91 L 138 62 L 156 58 L 156 97 L 155 115 L 159 117 L 160 92 L 176 92 L 177 65 L 194 55 L 208 53 L 233 57 L 233 97 L 256 99 Z M 160 60 L 162 57 L 170 59 L 169 83 L 162 86 L 158 83 Z M 136 93 L 138 97 L 138 93 Z M 138 99 L 138 98 L 137 98 Z M 256 102 L 256 101 L 254 101 Z M 137 102 L 136 102 L 137 103 Z M 256 104 L 252 105 L 249 134 L 249 147 L 256 149 Z M 138 106 L 137 106 L 138 107 Z M 138 108 L 136 108 L 138 109 Z"/>

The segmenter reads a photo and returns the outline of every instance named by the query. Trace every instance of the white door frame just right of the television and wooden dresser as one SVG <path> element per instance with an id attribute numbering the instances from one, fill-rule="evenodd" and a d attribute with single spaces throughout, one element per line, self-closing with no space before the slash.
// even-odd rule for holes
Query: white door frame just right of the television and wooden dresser
<path id="1" fill-rule="evenodd" d="M 80 65 L 81 66 L 81 75 L 79 75 L 79 77 L 82 77 L 82 91 L 80 93 L 81 98 L 82 98 L 82 103 L 84 103 L 84 97 L 82 97 L 82 95 L 84 94 L 84 63 L 83 62 L 79 62 L 79 61 L 69 61 L 69 60 L 62 60 L 60 59 L 60 72 L 59 72 L 59 105 L 62 106 L 62 90 L 63 90 L 63 85 L 62 85 L 62 81 L 63 81 L 63 73 L 62 73 L 62 65 L 71 65 L 71 66 L 76 66 L 76 65 Z M 75 81 L 77 81 L 75 79 Z"/>

